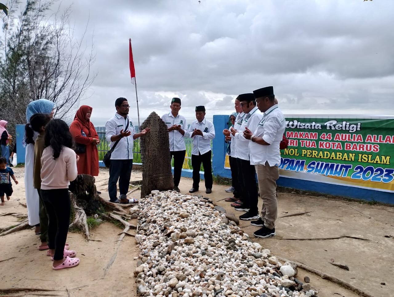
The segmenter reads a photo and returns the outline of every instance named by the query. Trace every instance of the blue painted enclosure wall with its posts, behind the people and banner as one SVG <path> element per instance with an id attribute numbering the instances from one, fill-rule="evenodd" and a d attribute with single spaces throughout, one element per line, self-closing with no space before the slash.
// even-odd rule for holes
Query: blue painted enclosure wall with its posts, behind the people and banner
<path id="1" fill-rule="evenodd" d="M 216 137 L 212 141 L 212 172 L 215 176 L 231 177 L 230 169 L 224 168 L 226 144 L 223 129 L 227 128 L 228 115 L 214 115 L 214 126 Z M 24 135 L 24 125 L 17 125 L 17 156 L 18 163 L 25 162 L 25 149 L 22 146 L 22 138 Z M 105 167 L 100 161 L 100 167 Z M 192 170 L 182 169 L 182 177 L 192 177 Z M 204 179 L 204 172 L 200 171 L 200 178 Z M 369 190 L 363 188 L 355 188 L 349 186 L 339 186 L 334 184 L 326 184 L 322 182 L 312 182 L 301 179 L 289 179 L 280 177 L 277 180 L 278 186 L 295 188 L 299 190 L 320 192 L 329 195 L 338 195 L 355 199 L 363 199 L 369 201 L 379 201 L 383 203 L 394 204 L 394 193 Z M 190 184 L 191 186 L 191 184 Z"/>

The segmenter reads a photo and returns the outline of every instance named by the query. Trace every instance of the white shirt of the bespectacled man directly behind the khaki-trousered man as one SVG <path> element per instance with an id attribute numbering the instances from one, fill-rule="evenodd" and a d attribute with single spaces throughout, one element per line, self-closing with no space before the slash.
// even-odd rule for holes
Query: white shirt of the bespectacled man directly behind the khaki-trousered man
<path id="1" fill-rule="evenodd" d="M 258 123 L 262 120 L 263 114 L 258 110 L 257 107 L 253 108 L 249 113 L 245 114 L 243 118 L 241 127 L 238 129 L 238 132 L 235 133 L 234 138 L 236 138 L 236 154 L 237 158 L 242 160 L 249 160 L 249 142 L 250 140 L 246 139 L 243 136 L 243 131 L 247 127 L 251 131 L 255 131 Z"/>

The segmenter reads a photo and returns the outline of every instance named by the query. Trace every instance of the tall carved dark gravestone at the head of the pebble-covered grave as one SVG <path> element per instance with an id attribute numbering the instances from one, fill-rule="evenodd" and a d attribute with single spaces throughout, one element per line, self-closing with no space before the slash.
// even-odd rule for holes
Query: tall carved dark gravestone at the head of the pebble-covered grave
<path id="1" fill-rule="evenodd" d="M 151 128 L 151 132 L 141 137 L 142 186 L 141 198 L 152 190 L 173 190 L 171 155 L 167 125 L 155 113 L 141 124 L 140 131 Z"/>

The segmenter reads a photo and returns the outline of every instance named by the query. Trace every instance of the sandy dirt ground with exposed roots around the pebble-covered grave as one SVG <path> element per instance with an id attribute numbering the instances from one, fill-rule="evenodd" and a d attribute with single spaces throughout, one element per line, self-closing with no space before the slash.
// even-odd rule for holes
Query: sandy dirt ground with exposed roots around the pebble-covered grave
<path id="1" fill-rule="evenodd" d="M 26 214 L 24 196 L 24 168 L 14 169 L 20 181 L 13 185 L 14 194 L 5 206 L 0 207 L 0 215 L 6 212 Z M 142 173 L 133 170 L 132 180 L 140 180 Z M 108 199 L 108 170 L 100 170 L 96 178 L 97 189 L 102 197 Z M 191 188 L 191 179 L 182 178 L 180 190 L 187 193 Z M 214 185 L 212 194 L 200 193 L 217 201 L 217 205 L 237 216 L 243 212 L 235 211 L 230 203 L 222 199 L 229 197 L 224 192 L 228 186 Z M 203 181 L 200 189 L 204 190 Z M 139 198 L 140 192 L 132 193 Z M 261 199 L 260 199 L 261 200 Z M 373 296 L 394 295 L 394 208 L 383 205 L 361 204 L 357 201 L 342 201 L 278 193 L 278 216 L 297 212 L 312 211 L 309 214 L 279 218 L 276 237 L 269 239 L 252 238 L 271 254 L 282 258 L 302 262 L 314 269 L 340 278 Z M 261 201 L 260 201 L 261 204 Z M 0 226 L 12 226 L 18 223 L 13 216 L 0 216 Z M 137 220 L 132 220 L 137 224 Z M 258 228 L 248 221 L 241 221 L 245 233 L 253 237 Z M 72 269 L 53 271 L 52 262 L 39 251 L 39 237 L 33 229 L 27 229 L 0 237 L 0 291 L 7 288 L 40 288 L 56 291 L 36 292 L 58 296 L 136 296 L 136 284 L 133 271 L 139 250 L 133 237 L 125 237 L 117 252 L 115 261 L 104 274 L 104 268 L 114 256 L 119 233 L 115 225 L 104 222 L 91 231 L 94 241 L 87 242 L 80 233 L 69 233 L 67 242 L 75 249 L 81 260 L 80 265 Z M 132 231 L 132 233 L 135 231 Z M 360 239 L 299 240 L 312 238 L 340 237 L 341 235 L 362 237 Z M 386 237 L 385 237 L 386 236 Z M 297 239 L 297 240 L 291 240 Z M 349 271 L 331 265 L 329 262 L 348 265 Z M 317 288 L 320 297 L 346 296 L 357 294 L 332 282 L 321 279 L 315 274 L 298 269 L 301 281 L 310 277 L 312 287 Z M 384 285 L 381 283 L 385 283 Z M 13 296 L 34 296 L 35 293 L 13 293 Z"/>

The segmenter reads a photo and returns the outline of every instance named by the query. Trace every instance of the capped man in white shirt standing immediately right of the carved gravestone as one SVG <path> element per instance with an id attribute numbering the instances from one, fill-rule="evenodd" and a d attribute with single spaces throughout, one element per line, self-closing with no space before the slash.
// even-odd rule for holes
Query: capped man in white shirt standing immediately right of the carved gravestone
<path id="1" fill-rule="evenodd" d="M 186 154 L 184 136 L 187 136 L 188 124 L 186 118 L 179 114 L 179 98 L 172 98 L 170 108 L 171 112 L 163 115 L 162 120 L 168 128 L 171 158 L 174 156 L 174 191 L 180 192 L 178 186 Z"/>

